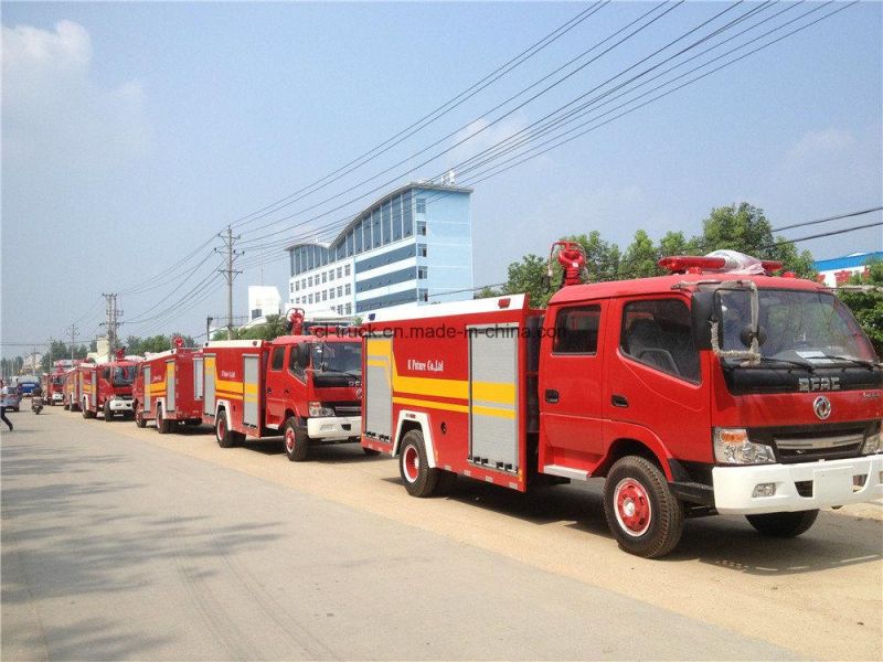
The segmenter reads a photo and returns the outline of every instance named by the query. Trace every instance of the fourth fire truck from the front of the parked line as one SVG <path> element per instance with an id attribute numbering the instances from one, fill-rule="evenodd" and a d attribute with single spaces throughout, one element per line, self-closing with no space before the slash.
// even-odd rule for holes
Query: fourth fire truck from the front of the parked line
<path id="1" fill-rule="evenodd" d="M 130 415 L 131 386 L 137 367 L 136 361 L 124 357 L 123 350 L 107 363 L 81 363 L 77 380 L 83 418 L 95 418 L 102 412 L 109 423 L 116 414 Z"/>

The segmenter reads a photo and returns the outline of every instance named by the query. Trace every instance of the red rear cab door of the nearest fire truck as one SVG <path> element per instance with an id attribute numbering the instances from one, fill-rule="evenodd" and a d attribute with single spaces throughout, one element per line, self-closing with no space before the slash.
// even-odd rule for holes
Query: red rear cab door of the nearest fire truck
<path id="1" fill-rule="evenodd" d="M 579 477 L 604 450 L 603 330 L 608 303 L 555 306 L 546 312 L 540 357 L 540 471 Z"/>

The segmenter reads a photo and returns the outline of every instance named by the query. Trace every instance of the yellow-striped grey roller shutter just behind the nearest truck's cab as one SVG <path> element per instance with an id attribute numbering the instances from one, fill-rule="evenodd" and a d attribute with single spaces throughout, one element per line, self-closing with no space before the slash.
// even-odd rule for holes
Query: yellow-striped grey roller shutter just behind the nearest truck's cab
<path id="1" fill-rule="evenodd" d="M 469 461 L 517 473 L 518 325 L 467 327 Z"/>

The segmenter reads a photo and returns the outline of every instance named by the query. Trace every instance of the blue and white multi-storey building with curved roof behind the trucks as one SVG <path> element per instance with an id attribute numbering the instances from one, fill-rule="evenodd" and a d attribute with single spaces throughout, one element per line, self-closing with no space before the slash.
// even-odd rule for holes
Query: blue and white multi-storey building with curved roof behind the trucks
<path id="1" fill-rule="evenodd" d="M 471 189 L 411 183 L 359 213 L 330 243 L 289 246 L 288 299 L 306 313 L 362 316 L 472 298 Z"/>

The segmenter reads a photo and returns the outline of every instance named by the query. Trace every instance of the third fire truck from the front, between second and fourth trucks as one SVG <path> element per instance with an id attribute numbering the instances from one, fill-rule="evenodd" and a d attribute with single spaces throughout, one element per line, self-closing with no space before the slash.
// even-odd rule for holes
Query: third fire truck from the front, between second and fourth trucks
<path id="1" fill-rule="evenodd" d="M 173 431 L 179 423 L 202 423 L 202 352 L 183 346 L 151 354 L 138 365 L 132 385 L 135 424 L 145 427 L 157 421 L 161 435 Z"/>

